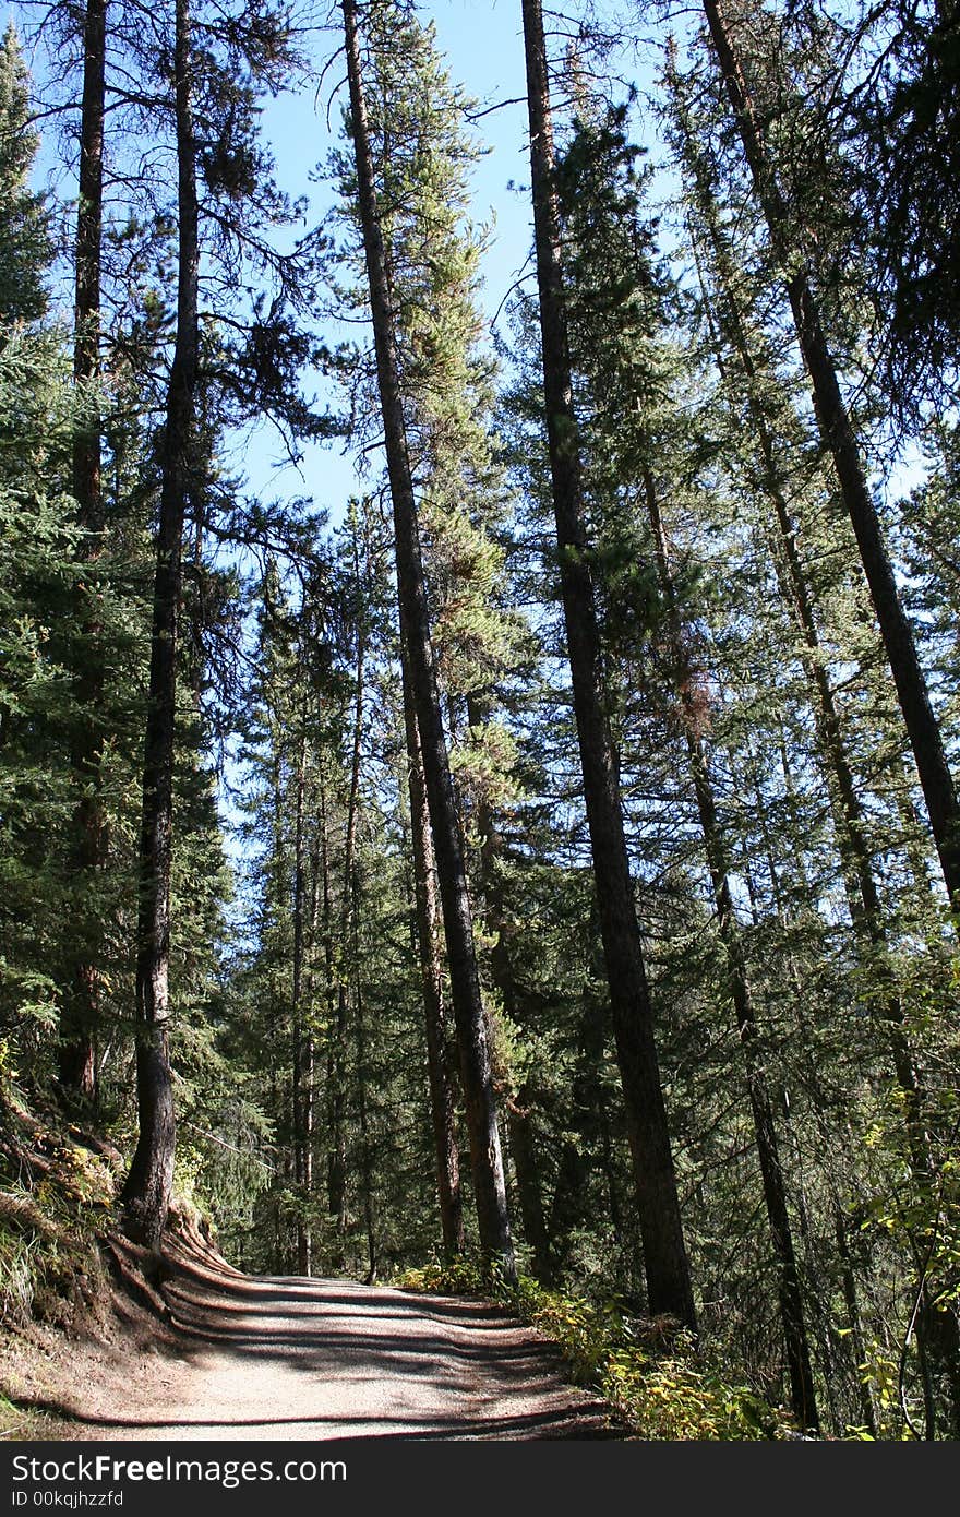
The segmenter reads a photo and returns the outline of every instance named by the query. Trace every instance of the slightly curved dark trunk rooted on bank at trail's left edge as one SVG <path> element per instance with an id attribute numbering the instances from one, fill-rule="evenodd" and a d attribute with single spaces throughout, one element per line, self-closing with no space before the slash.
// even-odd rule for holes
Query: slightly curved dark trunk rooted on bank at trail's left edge
<path id="1" fill-rule="evenodd" d="M 187 502 L 196 487 L 197 387 L 197 147 L 193 121 L 190 0 L 176 0 L 173 50 L 179 273 L 177 325 L 161 440 L 161 504 L 153 583 L 150 690 L 144 740 L 136 944 L 136 1110 L 140 1139 L 123 1188 L 126 1230 L 159 1247 L 173 1186 L 174 1117 L 170 1076 L 170 868 L 176 645 Z"/>

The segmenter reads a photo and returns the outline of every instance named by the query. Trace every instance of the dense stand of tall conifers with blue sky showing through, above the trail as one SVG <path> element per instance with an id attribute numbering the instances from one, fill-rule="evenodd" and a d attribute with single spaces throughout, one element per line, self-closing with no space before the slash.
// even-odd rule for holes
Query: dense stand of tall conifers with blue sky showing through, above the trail
<path id="1" fill-rule="evenodd" d="M 955 8 L 516 11 L 491 322 L 443 8 L 15 9 L 0 1118 L 957 1437 Z"/>

